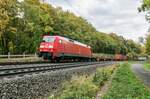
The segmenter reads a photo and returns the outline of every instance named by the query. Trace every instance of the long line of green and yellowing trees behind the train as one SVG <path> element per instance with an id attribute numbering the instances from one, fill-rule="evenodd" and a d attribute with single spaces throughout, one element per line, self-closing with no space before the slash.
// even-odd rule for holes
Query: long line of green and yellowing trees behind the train
<path id="1" fill-rule="evenodd" d="M 0 1 L 0 53 L 34 53 L 43 34 L 88 44 L 95 53 L 139 54 L 141 45 L 115 33 L 97 31 L 86 19 L 39 0 Z"/>

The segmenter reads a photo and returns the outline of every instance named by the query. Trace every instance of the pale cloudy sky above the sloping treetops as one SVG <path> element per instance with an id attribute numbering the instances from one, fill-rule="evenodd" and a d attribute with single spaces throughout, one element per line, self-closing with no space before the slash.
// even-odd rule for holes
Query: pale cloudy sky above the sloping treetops
<path id="1" fill-rule="evenodd" d="M 144 37 L 149 24 L 137 8 L 142 0 L 45 0 L 87 19 L 98 31 L 115 32 L 138 41 Z"/>

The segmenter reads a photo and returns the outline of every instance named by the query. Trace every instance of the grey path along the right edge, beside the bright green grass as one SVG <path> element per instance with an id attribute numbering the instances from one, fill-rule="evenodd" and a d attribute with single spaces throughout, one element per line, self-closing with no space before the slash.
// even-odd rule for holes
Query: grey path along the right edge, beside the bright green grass
<path id="1" fill-rule="evenodd" d="M 132 69 L 135 74 L 150 88 L 150 71 L 146 71 L 142 64 L 133 64 Z"/>

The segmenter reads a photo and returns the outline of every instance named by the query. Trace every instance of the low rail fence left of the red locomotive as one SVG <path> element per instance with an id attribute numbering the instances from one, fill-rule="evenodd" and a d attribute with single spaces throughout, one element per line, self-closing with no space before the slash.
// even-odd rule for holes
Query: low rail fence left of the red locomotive
<path id="1" fill-rule="evenodd" d="M 22 54 L 11 54 L 8 53 L 7 55 L 0 55 L 0 58 L 26 58 L 26 57 L 37 57 L 37 54 L 26 54 L 26 53 L 22 53 Z"/>

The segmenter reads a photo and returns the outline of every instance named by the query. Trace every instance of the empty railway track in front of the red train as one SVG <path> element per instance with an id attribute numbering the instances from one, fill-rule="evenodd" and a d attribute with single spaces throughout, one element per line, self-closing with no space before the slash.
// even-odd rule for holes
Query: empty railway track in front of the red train
<path id="1" fill-rule="evenodd" d="M 8 65 L 0 67 L 0 78 L 24 76 L 26 74 L 41 73 L 47 71 L 57 71 L 62 69 L 77 68 L 90 65 L 110 65 L 114 62 L 77 62 L 77 63 L 55 63 L 55 64 L 26 64 Z"/>

